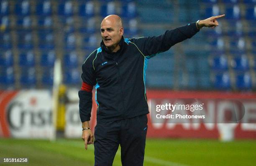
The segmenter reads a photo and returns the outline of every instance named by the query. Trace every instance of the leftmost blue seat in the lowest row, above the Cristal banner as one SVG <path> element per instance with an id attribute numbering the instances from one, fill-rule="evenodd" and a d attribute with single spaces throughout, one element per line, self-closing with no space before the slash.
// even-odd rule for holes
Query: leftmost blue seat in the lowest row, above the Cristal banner
<path id="1" fill-rule="evenodd" d="M 13 67 L 0 70 L 0 83 L 5 86 L 12 86 L 15 83 Z"/>

